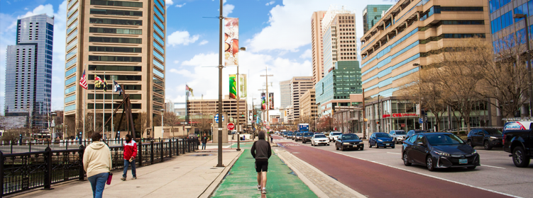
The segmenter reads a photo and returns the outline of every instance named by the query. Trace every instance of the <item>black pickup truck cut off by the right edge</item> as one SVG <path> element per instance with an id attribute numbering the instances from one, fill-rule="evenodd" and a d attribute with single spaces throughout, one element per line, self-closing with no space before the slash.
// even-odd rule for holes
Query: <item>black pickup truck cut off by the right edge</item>
<path id="1" fill-rule="evenodd" d="M 503 151 L 511 153 L 512 162 L 525 168 L 533 157 L 533 121 L 508 122 L 503 127 Z"/>

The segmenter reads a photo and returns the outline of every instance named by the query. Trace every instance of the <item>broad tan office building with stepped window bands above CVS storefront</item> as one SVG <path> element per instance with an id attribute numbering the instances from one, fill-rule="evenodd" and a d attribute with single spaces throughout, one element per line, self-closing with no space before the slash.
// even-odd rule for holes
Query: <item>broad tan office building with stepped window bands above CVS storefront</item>
<path id="1" fill-rule="evenodd" d="M 420 128 L 421 108 L 417 101 L 405 100 L 395 91 L 410 83 L 410 74 L 417 74 L 419 67 L 413 64 L 422 68 L 432 64 L 434 59 L 429 55 L 442 52 L 442 47 L 466 37 L 490 40 L 488 24 L 487 0 L 400 0 L 392 6 L 361 37 L 363 88 L 367 98 L 374 98 L 366 103 L 369 131 Z M 474 116 L 483 113 L 488 115 L 486 110 L 480 111 L 473 113 L 471 119 L 477 120 Z M 427 126 L 436 124 L 431 113 L 427 115 L 427 122 Z M 453 119 L 441 120 L 441 126 L 451 126 L 450 122 Z M 461 127 L 456 124 L 454 127 Z"/>

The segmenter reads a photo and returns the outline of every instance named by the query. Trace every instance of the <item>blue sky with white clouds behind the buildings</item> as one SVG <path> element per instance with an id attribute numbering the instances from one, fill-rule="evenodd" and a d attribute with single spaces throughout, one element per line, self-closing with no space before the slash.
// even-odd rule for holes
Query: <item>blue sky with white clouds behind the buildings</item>
<path id="1" fill-rule="evenodd" d="M 392 0 L 393 1 L 393 0 Z M 52 109 L 62 110 L 65 77 L 65 17 L 67 1 L 0 1 L 0 108 L 4 113 L 6 49 L 16 42 L 16 19 L 47 13 L 55 16 Z M 239 55 L 239 71 L 248 74 L 248 103 L 259 98 L 265 87 L 268 66 L 269 92 L 275 93 L 279 107 L 280 81 L 292 76 L 311 76 L 311 15 L 327 10 L 330 4 L 344 5 L 356 13 L 357 37 L 363 35 L 362 11 L 366 4 L 394 4 L 391 0 L 227 0 L 226 16 L 239 18 L 240 45 L 247 47 Z M 194 98 L 218 97 L 219 1 L 167 0 L 166 98 L 185 102 L 185 84 L 194 89 Z M 358 48 L 360 48 L 358 44 Z M 228 75 L 223 74 L 223 93 L 228 94 Z M 259 103 L 258 99 L 254 103 Z M 272 113 L 276 113 L 273 111 Z"/>

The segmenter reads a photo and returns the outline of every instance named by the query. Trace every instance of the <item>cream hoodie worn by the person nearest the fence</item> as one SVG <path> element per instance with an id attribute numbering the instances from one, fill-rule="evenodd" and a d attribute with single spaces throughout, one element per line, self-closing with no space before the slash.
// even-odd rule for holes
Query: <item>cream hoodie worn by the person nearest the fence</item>
<path id="1" fill-rule="evenodd" d="M 100 173 L 109 173 L 111 170 L 111 150 L 101 141 L 89 144 L 83 153 L 83 169 L 87 177 Z"/>

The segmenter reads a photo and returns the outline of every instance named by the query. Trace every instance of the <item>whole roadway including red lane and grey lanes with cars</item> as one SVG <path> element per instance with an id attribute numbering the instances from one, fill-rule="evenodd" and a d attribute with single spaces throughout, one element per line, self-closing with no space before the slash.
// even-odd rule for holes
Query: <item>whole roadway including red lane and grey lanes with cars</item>
<path id="1" fill-rule="evenodd" d="M 429 172 L 424 166 L 405 166 L 401 144 L 396 148 L 336 151 L 275 136 L 285 150 L 368 197 L 533 197 L 533 165 L 517 168 L 509 153 L 495 148 L 480 153 L 481 166 Z"/>

